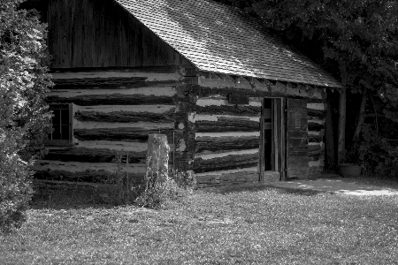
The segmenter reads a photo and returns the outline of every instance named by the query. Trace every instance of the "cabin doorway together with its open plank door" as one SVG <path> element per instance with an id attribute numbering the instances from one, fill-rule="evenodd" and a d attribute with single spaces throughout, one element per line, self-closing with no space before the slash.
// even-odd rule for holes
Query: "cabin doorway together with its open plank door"
<path id="1" fill-rule="evenodd" d="M 309 169 L 305 99 L 264 98 L 260 120 L 260 181 L 301 178 Z"/>

